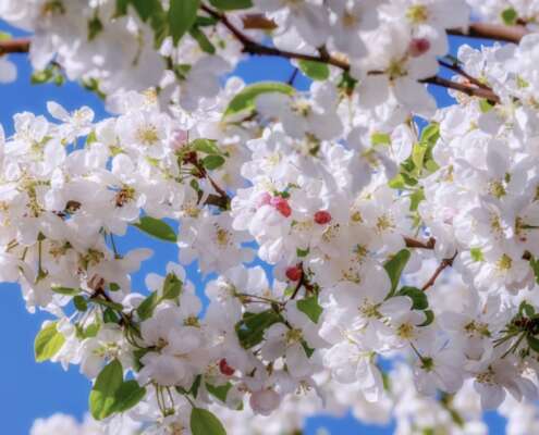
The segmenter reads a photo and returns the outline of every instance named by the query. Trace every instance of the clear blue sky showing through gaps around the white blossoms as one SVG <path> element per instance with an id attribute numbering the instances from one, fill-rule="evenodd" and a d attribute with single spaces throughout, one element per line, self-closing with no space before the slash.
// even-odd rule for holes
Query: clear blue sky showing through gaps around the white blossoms
<path id="1" fill-rule="evenodd" d="M 0 21 L 0 32 L 17 33 Z M 453 49 L 462 44 L 455 38 Z M 33 86 L 29 83 L 30 67 L 24 54 L 12 55 L 19 67 L 19 79 L 15 84 L 0 85 L 0 123 L 7 130 L 12 132 L 12 116 L 22 111 L 46 113 L 46 103 L 49 100 L 58 101 L 69 110 L 81 105 L 89 105 L 96 112 L 97 119 L 107 114 L 102 102 L 93 94 L 84 90 L 76 84 L 66 84 L 62 87 L 54 85 Z M 255 62 L 244 62 L 238 66 L 237 74 L 246 82 L 273 79 L 285 82 L 292 73 L 286 61 L 259 58 Z M 301 88 L 308 86 L 307 79 L 298 77 L 296 85 Z M 443 90 L 436 90 L 437 99 L 441 104 L 451 100 Z M 120 250 L 127 250 L 139 243 L 139 235 L 132 231 L 126 238 L 120 241 Z M 148 243 L 145 237 L 144 243 Z M 176 260 L 175 248 L 158 241 L 149 241 L 149 247 L 158 248 L 159 253 L 144 264 L 143 271 L 135 276 L 135 283 L 149 271 L 164 274 L 167 261 Z M 195 281 L 199 289 L 203 283 L 194 279 L 195 269 L 189 268 L 189 277 Z M 143 289 L 136 286 L 136 289 Z M 27 435 L 33 421 L 45 418 L 54 412 L 74 414 L 79 420 L 87 410 L 87 397 L 90 383 L 78 373 L 77 368 L 64 372 L 59 364 L 34 361 L 33 343 L 46 314 L 30 314 L 24 307 L 20 289 L 15 285 L 0 284 L 0 424 L 1 434 Z M 503 422 L 494 414 L 488 420 L 491 434 L 502 434 Z M 375 427 L 360 425 L 352 417 L 345 419 L 316 418 L 309 420 L 306 435 L 315 435 L 319 427 L 326 427 L 331 435 L 385 435 L 393 433 L 392 427 Z M 54 434 L 51 434 L 54 435 Z M 233 434 L 230 434 L 233 435 Z"/>

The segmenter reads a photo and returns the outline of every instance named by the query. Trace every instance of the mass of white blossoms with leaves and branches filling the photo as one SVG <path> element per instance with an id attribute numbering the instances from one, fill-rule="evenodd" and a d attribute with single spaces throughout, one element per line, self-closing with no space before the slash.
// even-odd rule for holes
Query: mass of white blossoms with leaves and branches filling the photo
<path id="1" fill-rule="evenodd" d="M 0 2 L 35 80 L 113 113 L 0 129 L 0 282 L 54 316 L 36 360 L 93 383 L 83 427 L 33 434 L 296 434 L 348 408 L 399 434 L 537 426 L 535 2 L 180 3 Z M 519 44 L 446 55 L 471 11 L 510 9 Z M 246 53 L 309 88 L 225 77 Z M 146 236 L 176 253 L 139 282 Z"/>

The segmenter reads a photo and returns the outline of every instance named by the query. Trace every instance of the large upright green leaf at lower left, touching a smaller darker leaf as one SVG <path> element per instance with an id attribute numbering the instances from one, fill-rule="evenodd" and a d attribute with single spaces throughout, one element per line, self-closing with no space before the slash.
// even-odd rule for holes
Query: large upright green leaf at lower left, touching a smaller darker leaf
<path id="1" fill-rule="evenodd" d="M 120 361 L 113 360 L 101 370 L 91 388 L 88 406 L 94 419 L 106 419 L 115 411 L 117 391 L 122 384 L 122 364 Z"/>

